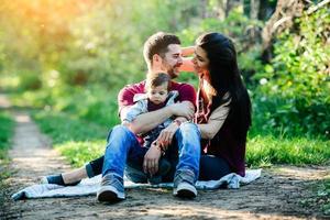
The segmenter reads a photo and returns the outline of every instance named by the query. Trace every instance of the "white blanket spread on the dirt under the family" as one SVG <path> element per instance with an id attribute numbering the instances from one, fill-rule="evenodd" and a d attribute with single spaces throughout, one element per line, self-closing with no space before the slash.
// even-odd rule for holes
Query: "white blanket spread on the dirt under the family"
<path id="1" fill-rule="evenodd" d="M 245 176 L 241 177 L 234 173 L 223 176 L 219 180 L 209 182 L 197 182 L 196 188 L 198 189 L 217 189 L 226 187 L 229 189 L 240 188 L 240 184 L 246 185 L 257 179 L 261 176 L 262 169 L 250 169 L 245 172 Z M 29 186 L 16 194 L 12 195 L 11 198 L 14 200 L 28 199 L 28 198 L 50 198 L 50 197 L 75 197 L 75 196 L 88 196 L 96 195 L 100 187 L 101 176 L 96 176 L 90 179 L 82 179 L 77 186 L 59 186 L 55 184 L 40 184 Z M 124 179 L 125 188 L 154 188 L 154 187 L 173 187 L 173 183 L 164 183 L 160 185 L 150 184 L 134 184 L 127 178 Z"/>

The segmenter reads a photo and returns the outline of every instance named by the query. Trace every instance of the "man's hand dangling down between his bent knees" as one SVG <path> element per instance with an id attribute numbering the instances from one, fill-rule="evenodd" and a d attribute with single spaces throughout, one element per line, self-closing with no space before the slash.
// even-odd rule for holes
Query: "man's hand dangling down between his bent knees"
<path id="1" fill-rule="evenodd" d="M 151 147 L 147 150 L 144 155 L 143 161 L 143 170 L 144 173 L 148 173 L 150 175 L 155 175 L 158 170 L 158 162 L 162 155 L 161 147 L 153 142 Z"/>

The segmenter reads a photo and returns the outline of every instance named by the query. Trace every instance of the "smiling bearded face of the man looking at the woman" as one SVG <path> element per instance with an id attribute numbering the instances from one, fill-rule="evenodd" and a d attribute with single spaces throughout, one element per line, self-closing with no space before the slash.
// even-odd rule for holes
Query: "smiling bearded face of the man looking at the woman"
<path id="1" fill-rule="evenodd" d="M 179 74 L 179 67 L 183 65 L 182 47 L 179 44 L 169 44 L 167 52 L 162 59 L 162 69 L 170 78 L 176 78 Z"/>

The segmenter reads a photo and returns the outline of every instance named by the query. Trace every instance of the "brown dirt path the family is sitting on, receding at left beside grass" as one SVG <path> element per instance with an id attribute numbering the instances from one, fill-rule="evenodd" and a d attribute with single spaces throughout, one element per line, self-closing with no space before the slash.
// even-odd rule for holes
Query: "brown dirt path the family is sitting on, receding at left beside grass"
<path id="1" fill-rule="evenodd" d="M 24 112 L 15 113 L 16 129 L 10 151 L 10 194 L 37 182 L 42 175 L 68 168 L 50 141 Z M 80 198 L 8 200 L 0 219 L 320 219 L 316 208 L 304 208 L 316 180 L 329 167 L 278 166 L 239 190 L 199 191 L 193 201 L 179 200 L 167 189 L 127 190 L 127 200 L 103 205 L 94 196 Z M 314 210 L 315 209 L 315 210 Z"/>

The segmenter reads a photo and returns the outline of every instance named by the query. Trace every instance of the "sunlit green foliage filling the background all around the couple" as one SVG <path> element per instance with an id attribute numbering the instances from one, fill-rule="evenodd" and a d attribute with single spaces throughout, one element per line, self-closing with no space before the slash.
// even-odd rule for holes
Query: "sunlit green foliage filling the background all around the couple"
<path id="1" fill-rule="evenodd" d="M 199 0 L 4 1 L 0 6 L 0 86 L 10 76 L 15 78 L 8 84 L 19 87 L 14 105 L 45 110 L 36 120 L 59 142 L 66 140 L 58 144 L 74 146 L 70 136 L 88 138 L 90 132 L 78 125 L 73 129 L 73 121 L 108 128 L 119 122 L 117 94 L 123 85 L 144 78 L 142 47 L 148 35 L 174 32 L 186 46 L 202 32 L 221 32 L 235 43 L 253 99 L 249 163 L 298 164 L 290 155 L 304 163 L 326 163 L 316 152 L 328 155 L 318 148 L 329 145 L 322 142 L 330 128 L 329 11 L 322 9 L 295 21 L 294 30 L 277 37 L 272 63 L 264 65 L 258 58 L 257 34 L 263 22 L 249 19 L 239 4 L 220 18 L 218 4 Z M 198 85 L 193 74 L 183 74 L 178 80 Z M 67 121 L 72 130 L 63 128 Z M 67 132 L 56 133 L 57 125 Z M 267 141 L 274 147 L 267 150 Z M 278 148 L 288 155 L 272 155 L 272 148 L 282 142 L 284 148 Z M 302 145 L 301 154 L 296 155 L 295 142 Z M 305 152 L 309 148 L 314 156 Z"/>

